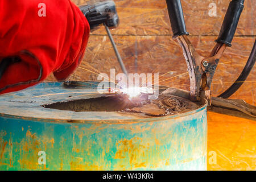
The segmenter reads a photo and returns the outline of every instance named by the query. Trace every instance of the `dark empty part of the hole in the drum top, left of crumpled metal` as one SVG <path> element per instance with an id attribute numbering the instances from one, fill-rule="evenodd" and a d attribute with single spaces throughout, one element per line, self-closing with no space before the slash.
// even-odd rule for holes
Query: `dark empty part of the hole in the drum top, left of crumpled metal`
<path id="1" fill-rule="evenodd" d="M 119 111 L 126 108 L 138 106 L 138 103 L 131 102 L 126 95 L 104 96 L 66 102 L 56 102 L 43 105 L 43 107 L 59 110 L 82 111 Z"/>

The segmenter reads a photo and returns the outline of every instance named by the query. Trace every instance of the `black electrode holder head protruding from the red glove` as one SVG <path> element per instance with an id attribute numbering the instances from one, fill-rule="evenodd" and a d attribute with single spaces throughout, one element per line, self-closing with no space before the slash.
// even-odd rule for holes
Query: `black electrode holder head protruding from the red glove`
<path id="1" fill-rule="evenodd" d="M 97 30 L 102 23 L 110 29 L 118 27 L 119 18 L 113 1 L 98 1 L 92 4 L 90 2 L 79 7 L 90 24 L 90 31 Z"/>

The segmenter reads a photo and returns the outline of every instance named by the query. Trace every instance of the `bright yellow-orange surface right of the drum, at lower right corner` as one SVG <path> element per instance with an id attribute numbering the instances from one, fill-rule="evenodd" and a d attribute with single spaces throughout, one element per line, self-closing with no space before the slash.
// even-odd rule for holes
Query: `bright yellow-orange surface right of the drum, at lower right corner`
<path id="1" fill-rule="evenodd" d="M 255 121 L 208 111 L 208 170 L 256 170 Z"/>

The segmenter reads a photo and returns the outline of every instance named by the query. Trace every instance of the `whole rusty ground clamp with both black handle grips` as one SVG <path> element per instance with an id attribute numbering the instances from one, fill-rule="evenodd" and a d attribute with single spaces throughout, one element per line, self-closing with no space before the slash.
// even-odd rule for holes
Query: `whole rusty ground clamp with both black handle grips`
<path id="1" fill-rule="evenodd" d="M 180 0 L 166 0 L 166 3 L 174 39 L 179 42 L 187 61 L 191 82 L 191 100 L 202 101 L 203 98 L 206 98 L 210 105 L 212 96 L 210 86 L 212 79 L 218 61 L 226 47 L 231 46 L 238 20 L 242 13 L 244 0 L 232 0 L 230 2 L 224 22 L 222 23 L 220 35 L 216 40 L 217 44 L 209 57 L 199 55 L 189 41 Z"/>

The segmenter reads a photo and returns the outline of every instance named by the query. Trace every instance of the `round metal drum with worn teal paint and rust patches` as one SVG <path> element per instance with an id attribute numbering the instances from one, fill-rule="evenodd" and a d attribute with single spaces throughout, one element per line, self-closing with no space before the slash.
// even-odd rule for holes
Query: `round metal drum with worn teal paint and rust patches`
<path id="1" fill-rule="evenodd" d="M 147 118 L 42 107 L 96 92 L 98 82 L 79 83 L 47 82 L 0 96 L 0 170 L 207 169 L 207 105 Z"/>

